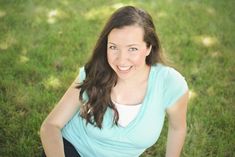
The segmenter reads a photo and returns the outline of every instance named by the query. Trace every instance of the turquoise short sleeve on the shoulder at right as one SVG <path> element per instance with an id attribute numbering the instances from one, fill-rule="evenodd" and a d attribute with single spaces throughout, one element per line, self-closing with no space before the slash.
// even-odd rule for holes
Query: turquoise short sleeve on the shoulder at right
<path id="1" fill-rule="evenodd" d="M 164 106 L 169 108 L 188 91 L 185 78 L 175 69 L 167 68 L 164 78 Z"/>

